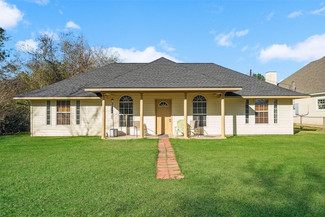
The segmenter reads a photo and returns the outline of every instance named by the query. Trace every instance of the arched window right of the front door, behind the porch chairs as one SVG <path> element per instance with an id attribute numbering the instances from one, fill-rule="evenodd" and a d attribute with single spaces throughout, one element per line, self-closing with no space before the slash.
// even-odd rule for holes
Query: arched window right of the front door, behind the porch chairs
<path id="1" fill-rule="evenodd" d="M 199 120 L 200 126 L 207 126 L 207 100 L 201 95 L 193 99 L 193 120 Z"/>

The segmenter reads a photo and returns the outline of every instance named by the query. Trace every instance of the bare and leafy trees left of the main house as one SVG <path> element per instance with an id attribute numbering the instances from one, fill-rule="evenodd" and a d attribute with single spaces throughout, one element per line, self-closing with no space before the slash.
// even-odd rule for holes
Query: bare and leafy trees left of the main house
<path id="1" fill-rule="evenodd" d="M 92 48 L 83 35 L 73 33 L 40 34 L 36 48 L 22 45 L 8 60 L 10 52 L 4 42 L 10 37 L 3 29 L 0 34 L 0 135 L 29 128 L 29 103 L 13 100 L 13 96 L 119 61 L 117 53 Z"/>

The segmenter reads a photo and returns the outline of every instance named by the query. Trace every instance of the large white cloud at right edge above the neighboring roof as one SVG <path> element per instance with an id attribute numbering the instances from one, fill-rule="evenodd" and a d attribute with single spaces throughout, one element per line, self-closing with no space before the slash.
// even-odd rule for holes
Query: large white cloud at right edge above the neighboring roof
<path id="1" fill-rule="evenodd" d="M 258 59 L 266 63 L 272 59 L 311 61 L 325 55 L 325 34 L 314 35 L 294 46 L 273 44 L 261 50 Z"/>

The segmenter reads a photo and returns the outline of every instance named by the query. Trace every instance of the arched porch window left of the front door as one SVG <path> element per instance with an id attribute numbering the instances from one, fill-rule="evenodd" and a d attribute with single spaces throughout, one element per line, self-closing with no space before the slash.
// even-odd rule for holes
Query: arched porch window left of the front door
<path id="1" fill-rule="evenodd" d="M 122 96 L 119 101 L 119 125 L 126 127 L 125 115 L 127 114 L 127 127 L 133 127 L 133 99 Z"/>

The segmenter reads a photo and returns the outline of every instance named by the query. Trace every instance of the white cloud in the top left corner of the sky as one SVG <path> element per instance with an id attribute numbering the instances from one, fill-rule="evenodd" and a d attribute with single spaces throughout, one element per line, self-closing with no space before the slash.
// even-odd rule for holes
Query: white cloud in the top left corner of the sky
<path id="1" fill-rule="evenodd" d="M 0 23 L 1 27 L 13 28 L 17 26 L 18 22 L 22 20 L 24 13 L 17 9 L 16 5 L 8 4 L 0 0 L 1 16 Z"/>

